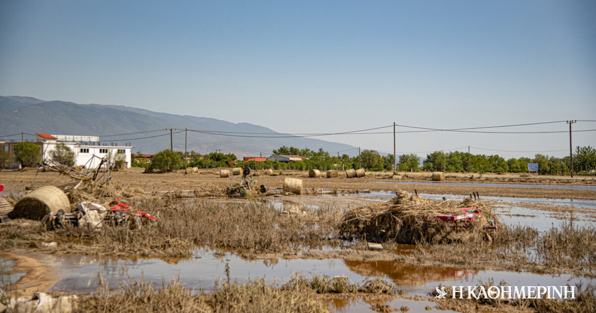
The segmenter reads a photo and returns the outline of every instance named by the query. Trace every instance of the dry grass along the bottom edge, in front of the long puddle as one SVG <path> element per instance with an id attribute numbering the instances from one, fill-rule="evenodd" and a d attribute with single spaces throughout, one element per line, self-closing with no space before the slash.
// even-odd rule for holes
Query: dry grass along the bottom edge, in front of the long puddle
<path id="1" fill-rule="evenodd" d="M 392 283 L 377 278 L 361 284 L 346 277 L 292 275 L 288 283 L 268 285 L 262 277 L 246 283 L 216 283 L 212 293 L 182 286 L 179 280 L 162 283 L 160 289 L 145 281 L 135 281 L 110 290 L 100 279 L 96 293 L 80 295 L 74 312 L 331 312 L 321 297 L 337 293 L 396 295 Z M 325 298 L 323 298 L 325 299 Z"/>

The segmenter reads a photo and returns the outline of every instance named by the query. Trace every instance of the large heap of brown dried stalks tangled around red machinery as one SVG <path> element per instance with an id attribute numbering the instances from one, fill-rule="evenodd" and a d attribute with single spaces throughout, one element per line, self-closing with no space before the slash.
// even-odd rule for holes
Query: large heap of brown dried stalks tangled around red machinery
<path id="1" fill-rule="evenodd" d="M 433 200 L 401 191 L 386 203 L 352 209 L 343 216 L 343 237 L 374 242 L 439 244 L 492 241 L 499 225 L 493 204 L 472 198 Z"/>

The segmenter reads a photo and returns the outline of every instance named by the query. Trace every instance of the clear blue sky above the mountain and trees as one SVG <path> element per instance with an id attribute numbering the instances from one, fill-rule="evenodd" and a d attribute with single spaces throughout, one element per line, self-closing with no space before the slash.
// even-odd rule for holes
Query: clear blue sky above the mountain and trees
<path id="1" fill-rule="evenodd" d="M 596 120 L 596 1 L 0 0 L 0 95 L 300 133 Z M 321 139 L 393 151 L 392 135 Z M 467 145 L 561 150 L 569 135 L 401 134 L 397 150 Z"/>

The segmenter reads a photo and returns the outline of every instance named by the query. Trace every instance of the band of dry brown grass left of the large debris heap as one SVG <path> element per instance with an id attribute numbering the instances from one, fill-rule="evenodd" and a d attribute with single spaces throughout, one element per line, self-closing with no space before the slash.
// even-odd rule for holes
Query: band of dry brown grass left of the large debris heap
<path id="1" fill-rule="evenodd" d="M 45 231 L 35 221 L 26 221 L 25 226 L 11 223 L 2 226 L 0 248 L 157 257 L 188 257 L 195 246 L 253 253 L 282 252 L 334 243 L 337 234 L 334 226 L 340 218 L 333 209 L 303 208 L 304 214 L 293 215 L 259 203 L 151 199 L 129 204 L 134 209 L 156 214 L 157 224 L 134 230 L 107 223 L 99 230 L 67 225 Z M 49 241 L 58 244 L 42 245 Z"/>

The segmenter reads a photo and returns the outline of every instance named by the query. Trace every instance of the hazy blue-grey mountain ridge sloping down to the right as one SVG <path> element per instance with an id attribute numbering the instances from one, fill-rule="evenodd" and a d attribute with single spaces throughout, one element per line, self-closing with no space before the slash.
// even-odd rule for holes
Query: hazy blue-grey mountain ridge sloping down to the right
<path id="1" fill-rule="evenodd" d="M 107 144 L 132 142 L 134 151 L 155 153 L 170 147 L 169 132 L 147 132 L 155 129 L 202 129 L 220 132 L 263 132 L 276 133 L 269 128 L 250 123 L 231 123 L 209 117 L 197 117 L 154 112 L 126 106 L 102 104 L 76 104 L 67 101 L 44 101 L 32 97 L 0 96 L 0 136 L 27 132 L 44 132 L 60 135 L 110 135 L 128 134 L 119 137 L 100 137 Z M 135 139 L 141 137 L 160 137 Z M 241 134 L 237 134 L 241 135 Z M 1 140 L 17 139 L 4 137 Z M 20 138 L 18 138 L 20 139 Z M 106 142 L 104 142 L 106 143 Z M 236 156 L 269 156 L 272 150 L 286 145 L 325 151 L 343 151 L 354 148 L 351 145 L 318 140 L 314 138 L 254 138 L 188 132 L 187 150 L 205 154 L 215 150 L 235 153 Z M 184 132 L 173 135 L 174 150 L 184 151 Z M 354 154 L 353 151 L 351 153 Z"/>

